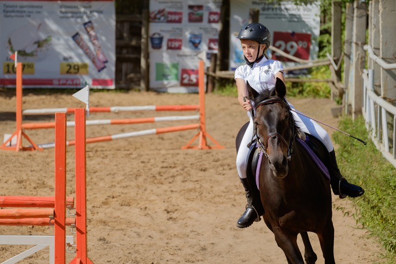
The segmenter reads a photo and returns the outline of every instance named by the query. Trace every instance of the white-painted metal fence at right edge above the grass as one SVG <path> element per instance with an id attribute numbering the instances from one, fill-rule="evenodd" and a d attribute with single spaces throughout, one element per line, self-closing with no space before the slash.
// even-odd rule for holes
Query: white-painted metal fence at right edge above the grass
<path id="1" fill-rule="evenodd" d="M 373 53 L 370 46 L 364 46 L 364 50 L 368 51 L 369 57 L 382 68 L 396 69 L 396 63 L 385 62 Z M 366 128 L 377 149 L 396 167 L 396 107 L 374 92 L 373 69 L 363 71 L 362 113 L 366 120 Z"/>

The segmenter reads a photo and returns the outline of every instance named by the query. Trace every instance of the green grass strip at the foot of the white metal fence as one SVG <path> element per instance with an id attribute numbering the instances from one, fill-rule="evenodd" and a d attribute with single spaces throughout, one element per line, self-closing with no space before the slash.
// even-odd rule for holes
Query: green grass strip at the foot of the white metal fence
<path id="1" fill-rule="evenodd" d="M 396 263 L 396 168 L 383 158 L 369 139 L 363 117 L 341 119 L 339 128 L 367 142 L 367 146 L 341 133 L 337 159 L 345 177 L 365 189 L 353 199 L 357 223 L 378 237 L 387 251 L 387 262 Z"/>

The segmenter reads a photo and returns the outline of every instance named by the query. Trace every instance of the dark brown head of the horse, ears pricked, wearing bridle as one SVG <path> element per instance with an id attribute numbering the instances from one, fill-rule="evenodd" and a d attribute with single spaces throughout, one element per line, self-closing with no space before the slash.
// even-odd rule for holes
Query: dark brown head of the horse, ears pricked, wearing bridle
<path id="1" fill-rule="evenodd" d="M 256 107 L 253 121 L 261 147 L 274 175 L 284 178 L 288 172 L 287 162 L 290 160 L 295 126 L 284 100 L 286 87 L 277 78 L 275 90 L 258 94 L 248 83 L 247 89 Z"/>

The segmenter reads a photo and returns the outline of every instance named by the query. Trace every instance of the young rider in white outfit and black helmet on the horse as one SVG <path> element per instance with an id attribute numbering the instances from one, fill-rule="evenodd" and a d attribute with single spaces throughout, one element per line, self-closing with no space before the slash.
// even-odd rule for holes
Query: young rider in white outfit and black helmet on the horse
<path id="1" fill-rule="evenodd" d="M 276 78 L 280 78 L 284 82 L 283 65 L 280 61 L 268 59 L 266 51 L 270 47 L 271 35 L 269 30 L 262 24 L 252 23 L 241 29 L 237 38 L 241 42 L 243 55 L 246 65 L 241 65 L 235 70 L 235 82 L 238 89 L 239 104 L 247 111 L 249 116 L 249 125 L 240 143 L 240 147 L 236 156 L 236 167 L 239 179 L 246 192 L 247 206 L 246 211 L 240 216 L 236 226 L 245 228 L 250 226 L 254 221 L 259 221 L 260 216 L 264 214 L 261 200 L 257 195 L 257 188 L 250 186 L 246 178 L 247 168 L 247 144 L 251 141 L 253 135 L 253 119 L 250 114 L 252 104 L 246 99 L 246 81 L 257 92 L 275 87 Z M 290 105 L 290 104 L 289 104 Z M 294 108 L 290 105 L 291 108 Z M 331 165 L 328 167 L 330 173 L 330 183 L 333 193 L 339 195 L 340 198 L 358 197 L 364 193 L 360 186 L 348 183 L 341 175 L 334 151 L 333 143 L 329 134 L 314 120 L 299 115 L 292 111 L 294 120 L 303 132 L 311 134 L 318 138 L 330 153 Z"/>

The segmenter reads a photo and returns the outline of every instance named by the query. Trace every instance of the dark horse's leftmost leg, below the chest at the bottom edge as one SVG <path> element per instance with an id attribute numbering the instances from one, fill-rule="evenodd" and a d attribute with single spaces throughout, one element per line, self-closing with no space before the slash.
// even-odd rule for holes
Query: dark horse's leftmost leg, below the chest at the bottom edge
<path id="1" fill-rule="evenodd" d="M 281 227 L 273 227 L 275 240 L 278 246 L 283 250 L 288 263 L 304 264 L 301 252 L 297 245 L 297 234 L 291 234 Z"/>

